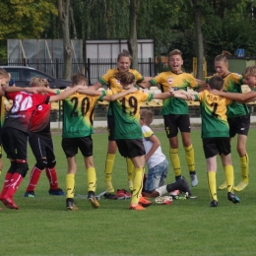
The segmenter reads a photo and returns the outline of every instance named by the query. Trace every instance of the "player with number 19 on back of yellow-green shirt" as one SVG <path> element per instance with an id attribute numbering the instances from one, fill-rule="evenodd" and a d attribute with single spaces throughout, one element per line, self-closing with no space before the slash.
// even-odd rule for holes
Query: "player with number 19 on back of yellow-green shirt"
<path id="1" fill-rule="evenodd" d="M 123 91 L 129 90 L 136 84 L 136 78 L 132 72 L 123 71 L 114 74 L 114 78 L 119 81 Z M 115 95 L 118 89 L 107 91 L 107 94 Z M 114 100 L 111 104 L 113 115 L 114 140 L 117 144 L 119 153 L 124 158 L 129 158 L 134 164 L 133 190 L 130 208 L 131 210 L 141 211 L 151 205 L 149 200 L 141 196 L 142 182 L 144 176 L 145 149 L 142 141 L 142 130 L 140 126 L 140 106 L 144 101 L 153 98 L 164 99 L 169 97 L 169 92 L 154 95 L 138 91 L 133 94 L 123 96 Z"/>

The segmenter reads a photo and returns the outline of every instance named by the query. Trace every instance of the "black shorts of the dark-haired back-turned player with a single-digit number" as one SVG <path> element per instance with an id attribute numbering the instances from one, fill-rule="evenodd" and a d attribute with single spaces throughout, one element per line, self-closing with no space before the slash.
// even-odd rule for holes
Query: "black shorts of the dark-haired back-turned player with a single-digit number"
<path id="1" fill-rule="evenodd" d="M 231 153 L 230 138 L 203 138 L 203 148 L 206 159 Z"/>

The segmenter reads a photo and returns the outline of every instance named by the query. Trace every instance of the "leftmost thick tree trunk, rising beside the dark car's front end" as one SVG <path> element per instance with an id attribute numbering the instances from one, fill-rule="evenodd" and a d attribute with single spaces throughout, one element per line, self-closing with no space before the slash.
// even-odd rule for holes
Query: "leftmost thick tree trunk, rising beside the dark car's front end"
<path id="1" fill-rule="evenodd" d="M 64 68 L 63 78 L 70 80 L 72 75 L 72 47 L 69 32 L 69 9 L 70 0 L 58 0 L 58 13 L 59 20 L 61 23 L 62 34 L 63 34 L 63 55 L 64 55 Z"/>

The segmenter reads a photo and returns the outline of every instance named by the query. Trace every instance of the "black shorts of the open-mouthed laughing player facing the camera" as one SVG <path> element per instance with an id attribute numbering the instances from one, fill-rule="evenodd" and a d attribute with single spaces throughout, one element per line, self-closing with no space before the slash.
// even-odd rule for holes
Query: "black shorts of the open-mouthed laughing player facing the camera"
<path id="1" fill-rule="evenodd" d="M 183 133 L 190 133 L 190 119 L 188 114 L 163 115 L 167 138 L 176 137 L 178 129 Z"/>

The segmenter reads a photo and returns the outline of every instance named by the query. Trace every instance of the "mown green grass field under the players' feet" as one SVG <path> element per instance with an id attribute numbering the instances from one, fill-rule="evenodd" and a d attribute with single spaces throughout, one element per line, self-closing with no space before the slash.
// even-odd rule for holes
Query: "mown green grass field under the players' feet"
<path id="1" fill-rule="evenodd" d="M 163 132 L 156 132 L 162 151 L 168 157 L 168 142 Z M 247 151 L 250 157 L 250 184 L 237 193 L 241 203 L 227 201 L 226 191 L 218 191 L 219 207 L 210 208 L 200 131 L 192 131 L 196 170 L 199 185 L 192 189 L 197 199 L 176 200 L 169 206 L 153 204 L 147 211 L 128 211 L 129 200 L 99 201 L 93 209 L 89 202 L 77 198 L 77 212 L 65 209 L 65 197 L 47 194 L 48 181 L 42 173 L 36 187 L 36 198 L 25 198 L 29 174 L 22 182 L 15 201 L 20 210 L 0 212 L 0 255 L 256 255 L 256 174 L 254 166 L 256 129 L 250 130 Z M 94 155 L 97 173 L 96 192 L 104 191 L 103 169 L 106 154 L 106 134 L 94 135 Z M 66 159 L 61 149 L 61 136 L 53 136 L 60 187 L 65 190 Z M 235 184 L 240 181 L 239 161 L 232 143 Z M 182 174 L 188 178 L 184 151 L 180 147 Z M 87 194 L 84 161 L 79 155 L 76 175 L 76 194 Z M 0 184 L 2 187 L 8 160 Z M 34 160 L 29 152 L 29 163 Z M 169 167 L 167 182 L 174 179 Z M 224 170 L 219 160 L 218 184 L 224 181 Z M 126 163 L 117 154 L 113 183 L 116 189 L 128 190 Z M 1 206 L 4 208 L 4 206 Z"/>

